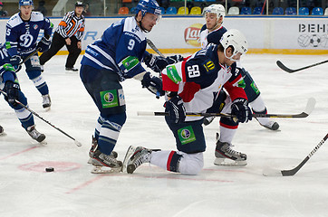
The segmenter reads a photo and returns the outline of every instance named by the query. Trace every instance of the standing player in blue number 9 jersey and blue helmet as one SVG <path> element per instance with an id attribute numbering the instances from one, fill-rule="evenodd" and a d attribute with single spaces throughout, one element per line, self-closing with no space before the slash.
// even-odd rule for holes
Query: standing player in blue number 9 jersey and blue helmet
<path id="1" fill-rule="evenodd" d="M 92 137 L 92 173 L 121 171 L 113 149 L 126 120 L 121 81 L 140 80 L 144 88 L 163 95 L 161 80 L 142 66 L 146 51 L 145 33 L 159 22 L 160 8 L 155 0 L 141 0 L 134 17 L 111 24 L 101 39 L 88 45 L 82 58 L 80 76 L 85 89 L 100 111 Z"/>

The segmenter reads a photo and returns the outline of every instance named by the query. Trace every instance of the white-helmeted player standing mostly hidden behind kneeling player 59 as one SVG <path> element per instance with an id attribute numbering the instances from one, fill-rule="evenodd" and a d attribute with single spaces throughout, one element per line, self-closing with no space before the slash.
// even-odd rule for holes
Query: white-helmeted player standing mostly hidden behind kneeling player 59
<path id="1" fill-rule="evenodd" d="M 206 23 L 200 31 L 200 42 L 202 48 L 205 48 L 208 43 L 219 43 L 219 39 L 223 33 L 227 32 L 227 29 L 222 25 L 225 17 L 225 7 L 223 5 L 214 4 L 204 8 L 204 16 Z M 249 101 L 249 104 L 254 113 L 266 114 L 265 102 L 261 97 L 260 90 L 258 90 L 255 81 L 251 75 L 241 66 L 240 61 L 237 61 L 237 71 L 239 71 L 245 80 L 245 91 Z M 208 112 L 215 112 L 220 106 L 219 100 L 213 108 L 209 109 Z M 205 118 L 204 124 L 208 125 L 213 118 Z M 270 118 L 256 118 L 261 126 L 269 128 L 271 130 L 277 130 L 279 124 Z"/>

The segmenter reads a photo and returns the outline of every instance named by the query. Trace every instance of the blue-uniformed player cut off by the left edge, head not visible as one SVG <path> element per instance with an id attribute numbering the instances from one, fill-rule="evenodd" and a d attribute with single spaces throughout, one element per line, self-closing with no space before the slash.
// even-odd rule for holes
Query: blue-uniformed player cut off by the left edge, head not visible
<path id="1" fill-rule="evenodd" d="M 20 89 L 19 82 L 15 73 L 21 68 L 18 66 L 20 61 L 21 58 L 17 55 L 10 58 L 8 51 L 5 49 L 5 45 L 0 43 L 0 90 L 5 91 L 5 100 L 8 102 L 9 106 L 14 109 L 17 118 L 21 122 L 22 127 L 24 127 L 26 132 L 36 141 L 42 142 L 45 136 L 36 130 L 33 114 L 16 103 L 16 100 L 18 100 L 22 102 L 24 106 L 28 107 L 27 99 Z"/>

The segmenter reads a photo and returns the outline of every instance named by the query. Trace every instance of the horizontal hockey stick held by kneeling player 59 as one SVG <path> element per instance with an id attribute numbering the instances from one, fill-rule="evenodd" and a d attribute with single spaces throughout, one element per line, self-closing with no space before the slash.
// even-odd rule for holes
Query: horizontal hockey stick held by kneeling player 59
<path id="1" fill-rule="evenodd" d="M 306 108 L 303 112 L 294 115 L 285 115 L 285 114 L 253 114 L 254 118 L 306 118 L 314 110 L 315 99 L 310 98 L 307 101 Z M 169 112 L 158 112 L 158 111 L 138 111 L 138 116 L 169 116 Z M 192 117 L 233 117 L 230 114 L 224 113 L 194 113 L 187 112 L 186 116 Z"/>

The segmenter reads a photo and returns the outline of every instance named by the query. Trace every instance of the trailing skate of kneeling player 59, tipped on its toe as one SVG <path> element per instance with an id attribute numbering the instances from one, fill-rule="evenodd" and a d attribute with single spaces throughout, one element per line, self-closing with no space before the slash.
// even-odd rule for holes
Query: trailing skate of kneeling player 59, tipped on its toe
<path id="1" fill-rule="evenodd" d="M 126 170 L 128 174 L 133 174 L 138 166 L 143 163 L 150 163 L 150 153 L 151 150 L 142 146 L 130 146 L 127 154 L 124 157 L 123 161 L 123 170 Z"/>

